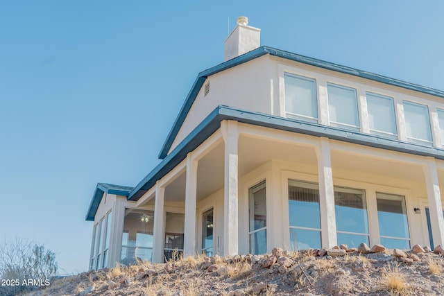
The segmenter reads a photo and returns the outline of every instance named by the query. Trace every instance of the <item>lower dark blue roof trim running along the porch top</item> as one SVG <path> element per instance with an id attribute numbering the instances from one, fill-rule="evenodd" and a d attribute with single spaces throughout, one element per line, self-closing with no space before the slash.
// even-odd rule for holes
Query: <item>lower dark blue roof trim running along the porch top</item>
<path id="1" fill-rule="evenodd" d="M 139 200 L 139 198 L 154 186 L 157 180 L 167 175 L 174 167 L 182 162 L 187 153 L 196 149 L 205 139 L 210 137 L 221 126 L 224 119 L 239 121 L 253 125 L 309 134 L 317 137 L 327 137 L 349 143 L 357 143 L 375 148 L 398 151 L 414 155 L 431 156 L 437 159 L 444 159 L 444 150 L 429 146 L 421 146 L 416 143 L 385 139 L 373 134 L 363 134 L 352 132 L 341 128 L 334 128 L 318 123 L 308 123 L 296 119 L 287 119 L 280 116 L 238 110 L 227 106 L 218 106 L 211 112 L 189 135 L 186 137 L 165 159 L 158 164 L 144 180 L 139 182 L 135 189 L 128 196 L 128 200 Z"/>

